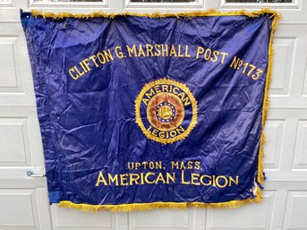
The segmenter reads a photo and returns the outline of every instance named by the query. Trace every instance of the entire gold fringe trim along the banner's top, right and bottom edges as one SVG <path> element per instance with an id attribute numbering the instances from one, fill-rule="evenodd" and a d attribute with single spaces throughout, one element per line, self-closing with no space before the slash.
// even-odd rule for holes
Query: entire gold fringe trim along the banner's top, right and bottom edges
<path id="1" fill-rule="evenodd" d="M 202 17 L 202 16 L 248 16 L 248 17 L 260 17 L 263 14 L 271 14 L 271 17 L 274 17 L 272 22 L 272 30 L 269 38 L 269 64 L 267 72 L 267 80 L 265 85 L 265 92 L 263 98 L 263 110 L 262 110 L 262 120 L 261 120 L 261 137 L 260 137 L 260 151 L 258 159 L 258 178 L 257 181 L 260 184 L 264 182 L 263 172 L 263 163 L 262 158 L 264 158 L 263 145 L 266 143 L 265 135 L 263 132 L 265 122 L 268 116 L 269 110 L 269 84 L 271 81 L 272 74 L 272 62 L 273 62 L 273 37 L 274 32 L 277 29 L 278 21 L 281 19 L 281 16 L 275 10 L 270 9 L 261 9 L 260 11 L 255 12 L 246 12 L 244 10 L 233 11 L 233 12 L 219 12 L 215 9 L 210 9 L 209 11 L 196 11 L 196 12 L 187 12 L 187 13 L 103 13 L 103 12 L 94 12 L 88 14 L 73 14 L 73 13 L 41 13 L 36 10 L 31 11 L 34 17 L 43 17 L 54 20 L 61 20 L 64 18 L 76 18 L 76 19 L 89 19 L 89 18 L 108 18 L 114 19 L 116 16 L 140 16 L 140 17 L 149 17 L 149 18 L 167 18 L 167 17 L 176 17 L 176 18 L 193 18 L 193 17 Z M 129 212 L 129 211 L 142 211 L 142 210 L 151 210 L 151 209 L 186 209 L 186 208 L 238 208 L 245 203 L 255 203 L 262 200 L 261 190 L 257 186 L 257 195 L 255 198 L 247 200 L 231 200 L 221 203 L 201 203 L 201 202 L 153 202 L 153 203 L 132 203 L 132 204 L 121 204 L 121 205 L 90 205 L 90 204 L 76 204 L 72 203 L 69 200 L 61 201 L 59 207 L 67 207 L 72 209 L 79 209 L 82 211 L 92 211 L 97 212 L 99 210 L 111 210 L 114 212 Z"/>

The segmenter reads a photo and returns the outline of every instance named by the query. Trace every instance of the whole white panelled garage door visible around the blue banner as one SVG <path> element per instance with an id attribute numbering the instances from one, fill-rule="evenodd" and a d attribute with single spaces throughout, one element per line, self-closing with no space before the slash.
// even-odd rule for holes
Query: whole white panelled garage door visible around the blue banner
<path id="1" fill-rule="evenodd" d="M 161 0 L 0 0 L 0 229 L 307 229 L 307 1 L 157 2 Z M 269 144 L 265 147 L 269 181 L 263 203 L 240 209 L 159 209 L 129 214 L 49 206 L 46 179 L 27 176 L 28 171 L 43 175 L 44 159 L 20 8 L 90 13 L 262 7 L 277 9 L 284 16 L 274 43 L 266 124 Z"/>

